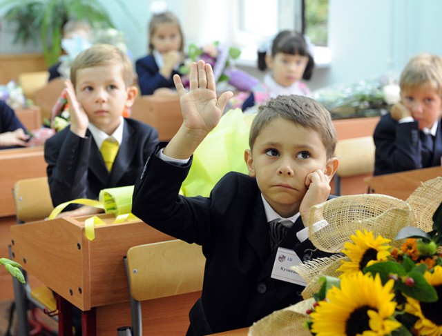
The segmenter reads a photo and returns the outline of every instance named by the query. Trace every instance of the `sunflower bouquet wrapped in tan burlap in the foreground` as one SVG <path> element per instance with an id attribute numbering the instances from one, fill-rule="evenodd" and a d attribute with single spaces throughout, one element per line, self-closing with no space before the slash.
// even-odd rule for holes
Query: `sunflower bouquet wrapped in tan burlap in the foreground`
<path id="1" fill-rule="evenodd" d="M 249 335 L 442 335 L 442 177 L 407 201 L 338 197 L 311 210 L 309 239 L 337 253 L 293 266 L 304 301 Z"/>

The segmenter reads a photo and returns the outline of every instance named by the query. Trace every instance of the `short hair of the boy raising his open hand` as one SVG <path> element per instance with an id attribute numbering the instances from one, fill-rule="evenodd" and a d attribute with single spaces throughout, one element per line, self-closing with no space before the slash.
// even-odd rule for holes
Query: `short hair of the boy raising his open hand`
<path id="1" fill-rule="evenodd" d="M 253 119 L 249 133 L 251 150 L 261 130 L 276 118 L 293 121 L 302 127 L 318 132 L 327 152 L 327 159 L 334 156 L 338 137 L 330 112 L 318 101 L 298 95 L 280 95 L 258 107 L 258 114 Z"/>

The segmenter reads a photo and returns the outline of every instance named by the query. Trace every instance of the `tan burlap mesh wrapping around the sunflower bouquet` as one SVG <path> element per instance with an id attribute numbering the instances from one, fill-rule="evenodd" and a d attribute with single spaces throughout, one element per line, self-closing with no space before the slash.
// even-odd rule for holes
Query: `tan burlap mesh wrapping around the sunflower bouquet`
<path id="1" fill-rule="evenodd" d="M 356 230 L 372 231 L 374 237 L 394 239 L 401 228 L 416 226 L 426 232 L 432 230 L 432 216 L 442 203 L 442 177 L 426 181 L 416 188 L 407 201 L 394 197 L 367 194 L 341 196 L 319 204 L 311 209 L 309 239 L 320 250 L 340 253 L 345 242 Z M 392 241 L 393 245 L 396 245 Z M 305 326 L 308 315 L 320 285 L 318 279 L 324 275 L 338 277 L 336 268 L 343 255 L 318 258 L 307 263 L 292 266 L 307 281 L 302 297 L 305 299 L 294 306 L 277 310 L 249 328 L 249 336 L 264 335 L 311 335 Z"/>

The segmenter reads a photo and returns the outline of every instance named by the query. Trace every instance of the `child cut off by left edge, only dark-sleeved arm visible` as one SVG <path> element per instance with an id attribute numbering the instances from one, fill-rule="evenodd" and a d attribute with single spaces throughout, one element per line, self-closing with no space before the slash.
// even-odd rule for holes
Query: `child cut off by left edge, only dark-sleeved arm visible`
<path id="1" fill-rule="evenodd" d="M 8 104 L 0 100 L 0 149 L 25 147 L 29 140 L 26 128 Z"/>

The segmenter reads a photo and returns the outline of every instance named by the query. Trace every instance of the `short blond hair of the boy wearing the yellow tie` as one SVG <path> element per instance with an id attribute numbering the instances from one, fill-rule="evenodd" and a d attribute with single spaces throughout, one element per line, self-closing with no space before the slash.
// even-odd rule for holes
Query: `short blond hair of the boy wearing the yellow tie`
<path id="1" fill-rule="evenodd" d="M 111 44 L 95 44 L 83 50 L 75 57 L 70 67 L 70 81 L 75 87 L 77 71 L 94 66 L 122 66 L 122 78 L 126 87 L 133 85 L 133 66 L 129 57 L 119 48 Z"/>

